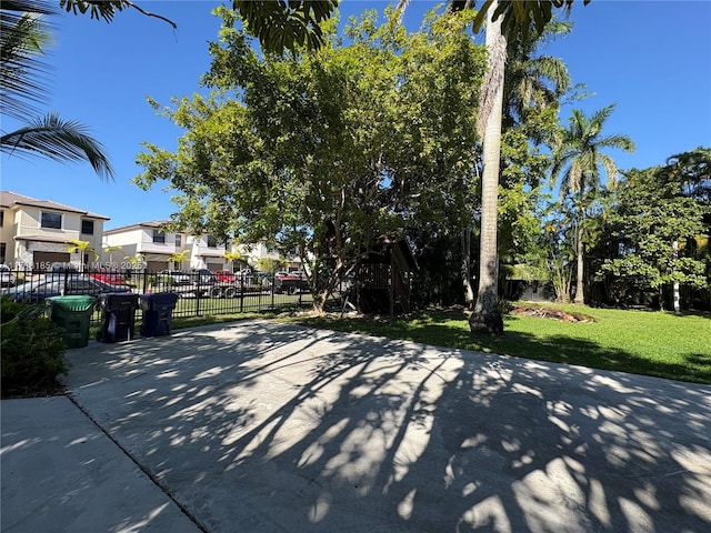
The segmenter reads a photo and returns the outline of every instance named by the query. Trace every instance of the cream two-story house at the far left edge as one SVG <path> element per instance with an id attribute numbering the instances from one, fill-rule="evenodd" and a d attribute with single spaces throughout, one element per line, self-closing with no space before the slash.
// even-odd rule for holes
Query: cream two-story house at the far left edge
<path id="1" fill-rule="evenodd" d="M 41 271 L 54 263 L 91 266 L 108 220 L 71 205 L 0 191 L 0 262 Z M 87 249 L 70 252 L 70 241 L 87 242 Z"/>

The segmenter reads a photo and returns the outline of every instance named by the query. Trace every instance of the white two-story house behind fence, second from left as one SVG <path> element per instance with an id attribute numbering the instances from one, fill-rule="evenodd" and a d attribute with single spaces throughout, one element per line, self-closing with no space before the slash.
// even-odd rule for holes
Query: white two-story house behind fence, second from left
<path id="1" fill-rule="evenodd" d="M 164 231 L 166 223 L 154 220 L 104 231 L 102 261 L 120 270 L 187 270 L 192 242 L 187 233 Z M 111 250 L 114 248 L 118 250 Z M 117 254 L 120 261 L 116 260 Z M 176 261 L 180 254 L 184 255 L 184 261 Z"/>

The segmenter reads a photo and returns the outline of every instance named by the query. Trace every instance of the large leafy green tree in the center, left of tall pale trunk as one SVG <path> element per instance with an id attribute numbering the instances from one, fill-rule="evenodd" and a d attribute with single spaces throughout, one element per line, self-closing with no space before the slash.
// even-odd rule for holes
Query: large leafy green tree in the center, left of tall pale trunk
<path id="1" fill-rule="evenodd" d="M 377 13 L 329 30 L 318 51 L 259 54 L 236 28 L 210 47 L 214 92 L 164 113 L 186 129 L 177 153 L 147 144 L 142 187 L 180 193 L 180 225 L 267 241 L 308 265 L 314 309 L 381 238 L 455 225 L 471 211 L 475 102 L 484 52 L 468 13 L 423 31 L 378 26 Z M 447 98 L 442 98 L 447 97 Z M 447 213 L 447 214 L 445 214 Z"/>

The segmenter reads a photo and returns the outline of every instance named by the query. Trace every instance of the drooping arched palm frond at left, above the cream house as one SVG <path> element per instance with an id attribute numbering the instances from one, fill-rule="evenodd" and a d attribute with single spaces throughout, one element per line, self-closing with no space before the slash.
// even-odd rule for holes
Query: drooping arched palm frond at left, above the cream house
<path id="1" fill-rule="evenodd" d="M 77 121 L 64 121 L 56 112 L 40 117 L 17 131 L 0 137 L 0 150 L 13 154 L 47 157 L 54 161 L 88 161 L 102 178 L 113 179 L 104 148 Z"/>

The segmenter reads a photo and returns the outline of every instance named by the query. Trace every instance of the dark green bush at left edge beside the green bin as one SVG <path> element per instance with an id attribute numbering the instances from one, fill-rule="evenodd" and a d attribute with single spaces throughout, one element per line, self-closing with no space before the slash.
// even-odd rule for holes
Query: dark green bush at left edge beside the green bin
<path id="1" fill-rule="evenodd" d="M 52 390 L 57 376 L 70 368 L 64 359 L 64 330 L 43 315 L 41 305 L 27 306 L 6 298 L 0 303 L 3 396 Z"/>

